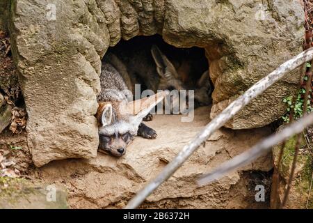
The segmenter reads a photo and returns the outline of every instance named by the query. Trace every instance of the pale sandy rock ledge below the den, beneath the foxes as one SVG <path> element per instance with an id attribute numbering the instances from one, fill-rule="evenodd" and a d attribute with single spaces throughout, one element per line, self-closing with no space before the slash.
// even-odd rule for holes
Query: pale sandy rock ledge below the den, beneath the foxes
<path id="1" fill-rule="evenodd" d="M 136 137 L 123 157 L 99 153 L 90 160 L 51 162 L 38 170 L 40 177 L 46 184 L 65 184 L 71 208 L 123 208 L 210 121 L 209 109 L 197 109 L 190 123 L 182 123 L 181 118 L 154 116 L 154 121 L 147 125 L 157 130 L 157 139 Z M 271 154 L 216 183 L 204 187 L 196 184 L 201 174 L 246 151 L 268 134 L 271 134 L 268 127 L 219 130 L 141 207 L 268 208 L 270 191 L 266 184 L 271 185 L 271 180 L 266 178 L 266 172 L 272 168 Z M 259 171 L 259 177 L 252 180 L 253 173 Z M 255 187 L 259 184 L 266 188 L 266 202 L 255 201 Z"/>

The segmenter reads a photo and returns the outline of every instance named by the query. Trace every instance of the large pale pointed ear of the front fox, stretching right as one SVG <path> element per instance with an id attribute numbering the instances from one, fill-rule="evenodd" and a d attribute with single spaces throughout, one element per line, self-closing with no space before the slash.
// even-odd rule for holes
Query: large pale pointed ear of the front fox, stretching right
<path id="1" fill-rule="evenodd" d="M 143 118 L 149 114 L 151 109 L 161 102 L 166 95 L 168 95 L 168 91 L 162 91 L 150 96 L 149 98 L 142 98 L 140 100 L 128 102 L 127 109 L 134 118 L 132 121 L 140 124 Z"/>

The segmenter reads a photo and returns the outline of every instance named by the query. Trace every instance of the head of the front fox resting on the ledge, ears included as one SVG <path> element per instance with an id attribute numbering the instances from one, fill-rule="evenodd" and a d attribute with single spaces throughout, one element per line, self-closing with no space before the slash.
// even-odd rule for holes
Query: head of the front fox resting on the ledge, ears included
<path id="1" fill-rule="evenodd" d="M 143 118 L 166 94 L 161 92 L 132 102 L 99 102 L 96 115 L 99 123 L 99 151 L 116 157 L 124 155 Z"/>

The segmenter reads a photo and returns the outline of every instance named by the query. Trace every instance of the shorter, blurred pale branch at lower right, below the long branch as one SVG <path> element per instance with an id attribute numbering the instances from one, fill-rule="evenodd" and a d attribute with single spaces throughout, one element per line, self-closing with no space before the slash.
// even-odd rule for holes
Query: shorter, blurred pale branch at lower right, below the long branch
<path id="1" fill-rule="evenodd" d="M 299 121 L 288 125 L 281 132 L 271 135 L 271 137 L 267 137 L 262 140 L 248 151 L 241 153 L 240 155 L 236 155 L 231 160 L 227 160 L 219 167 L 217 167 L 210 174 L 204 174 L 200 180 L 198 180 L 199 185 L 205 185 L 208 183 L 217 180 L 218 178 L 224 176 L 225 174 L 238 169 L 239 167 L 243 167 L 246 164 L 250 164 L 252 161 L 256 160 L 261 155 L 268 153 L 271 150 L 272 146 L 279 144 L 280 142 L 292 137 L 294 134 L 299 134 L 305 128 L 313 123 L 313 113 L 308 116 L 301 118 Z"/>

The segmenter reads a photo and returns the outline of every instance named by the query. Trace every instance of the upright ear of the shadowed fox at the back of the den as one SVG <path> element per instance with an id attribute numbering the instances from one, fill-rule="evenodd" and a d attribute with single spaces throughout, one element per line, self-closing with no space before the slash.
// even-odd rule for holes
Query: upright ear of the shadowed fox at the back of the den
<path id="1" fill-rule="evenodd" d="M 152 45 L 151 54 L 157 65 L 157 72 L 162 78 L 166 80 L 179 78 L 175 66 L 173 66 L 166 55 L 161 52 L 159 47 Z"/>

